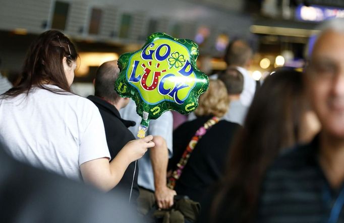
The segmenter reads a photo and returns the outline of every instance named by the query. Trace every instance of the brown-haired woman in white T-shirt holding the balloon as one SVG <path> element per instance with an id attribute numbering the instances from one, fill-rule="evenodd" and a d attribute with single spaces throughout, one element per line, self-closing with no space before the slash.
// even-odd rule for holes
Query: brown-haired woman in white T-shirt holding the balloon
<path id="1" fill-rule="evenodd" d="M 108 191 L 154 143 L 152 136 L 131 141 L 109 163 L 98 108 L 70 90 L 77 57 L 59 31 L 33 41 L 21 81 L 0 97 L 0 146 L 20 161 Z"/>

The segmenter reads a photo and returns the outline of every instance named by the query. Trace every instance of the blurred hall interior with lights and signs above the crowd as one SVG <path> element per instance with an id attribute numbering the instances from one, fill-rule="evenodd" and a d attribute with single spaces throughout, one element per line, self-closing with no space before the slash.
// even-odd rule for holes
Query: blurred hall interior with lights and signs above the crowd
<path id="1" fill-rule="evenodd" d="M 344 17 L 342 0 L 0 0 L 0 71 L 15 83 L 31 41 L 58 29 L 76 44 L 80 60 L 72 89 L 93 93 L 99 65 L 140 49 L 165 32 L 199 45 L 198 67 L 225 69 L 223 53 L 244 38 L 255 53 L 250 74 L 263 80 L 281 66 L 302 68 L 319 22 Z"/>

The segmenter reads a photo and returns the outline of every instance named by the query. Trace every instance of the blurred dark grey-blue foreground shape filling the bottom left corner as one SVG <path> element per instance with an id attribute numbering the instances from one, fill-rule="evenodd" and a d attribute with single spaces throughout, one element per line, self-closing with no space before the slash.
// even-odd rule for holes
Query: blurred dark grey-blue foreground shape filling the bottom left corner
<path id="1" fill-rule="evenodd" d="M 141 222 L 121 191 L 94 188 L 14 160 L 0 146 L 0 222 Z"/>

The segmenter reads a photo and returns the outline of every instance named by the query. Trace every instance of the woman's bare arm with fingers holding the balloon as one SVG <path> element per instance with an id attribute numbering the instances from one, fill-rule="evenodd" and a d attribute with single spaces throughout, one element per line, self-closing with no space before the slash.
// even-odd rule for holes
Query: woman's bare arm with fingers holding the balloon
<path id="1" fill-rule="evenodd" d="M 147 136 L 128 142 L 110 163 L 107 158 L 82 163 L 80 171 L 84 181 L 103 191 L 111 190 L 120 182 L 128 165 L 141 158 L 147 148 L 154 146 L 152 139 L 152 136 Z"/>

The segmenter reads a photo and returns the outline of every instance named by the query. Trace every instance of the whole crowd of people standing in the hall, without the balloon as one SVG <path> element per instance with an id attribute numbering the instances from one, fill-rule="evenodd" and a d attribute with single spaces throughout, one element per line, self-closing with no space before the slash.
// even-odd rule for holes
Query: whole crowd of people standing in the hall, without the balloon
<path id="1" fill-rule="evenodd" d="M 195 112 L 141 139 L 117 61 L 78 96 L 75 45 L 40 34 L 18 83 L 0 75 L 0 221 L 344 222 L 344 20 L 318 29 L 302 72 L 262 81 L 232 41 Z"/>

